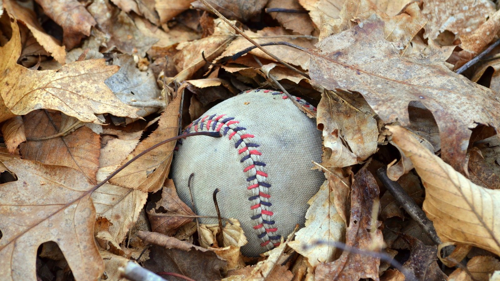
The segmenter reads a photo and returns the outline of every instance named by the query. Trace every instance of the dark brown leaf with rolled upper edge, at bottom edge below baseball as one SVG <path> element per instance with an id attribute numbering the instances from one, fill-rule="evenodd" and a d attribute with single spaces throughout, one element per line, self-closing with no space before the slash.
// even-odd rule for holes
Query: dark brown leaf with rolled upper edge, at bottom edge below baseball
<path id="1" fill-rule="evenodd" d="M 218 280 L 226 263 L 213 251 L 156 232 L 139 231 L 138 237 L 154 244 L 145 267 L 153 272 L 174 272 L 196 280 Z"/>

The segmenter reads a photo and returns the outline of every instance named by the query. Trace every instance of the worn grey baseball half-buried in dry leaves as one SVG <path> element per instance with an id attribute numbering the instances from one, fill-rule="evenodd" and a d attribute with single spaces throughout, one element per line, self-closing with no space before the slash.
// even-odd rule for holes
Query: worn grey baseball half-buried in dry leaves
<path id="1" fill-rule="evenodd" d="M 315 108 L 293 97 L 311 110 Z M 321 133 L 311 119 L 280 91 L 254 89 L 224 100 L 194 120 L 185 132 L 218 131 L 222 137 L 192 136 L 177 146 L 171 175 L 179 197 L 193 210 L 237 218 L 248 243 L 246 256 L 279 245 L 281 237 L 303 225 L 307 200 L 324 180 L 313 170 L 321 159 Z M 203 223 L 216 219 L 201 218 Z"/>

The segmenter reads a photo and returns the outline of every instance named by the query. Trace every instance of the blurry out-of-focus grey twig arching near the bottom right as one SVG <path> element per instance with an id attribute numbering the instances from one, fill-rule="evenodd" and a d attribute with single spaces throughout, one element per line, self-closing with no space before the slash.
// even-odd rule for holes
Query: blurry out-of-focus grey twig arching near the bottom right
<path id="1" fill-rule="evenodd" d="M 369 255 L 369 256 L 380 258 L 380 260 L 388 262 L 394 268 L 396 268 L 401 273 L 403 273 L 404 276 L 406 277 L 407 281 L 416 281 L 417 280 L 415 275 L 413 274 L 413 272 L 408 271 L 406 268 L 404 268 L 402 266 L 401 263 L 399 263 L 397 260 L 394 260 L 394 258 L 392 256 L 390 256 L 384 252 L 370 251 L 370 250 L 363 250 L 363 249 L 359 249 L 359 248 L 354 248 L 354 247 L 346 245 L 345 243 L 338 242 L 338 241 L 321 241 L 321 240 L 317 240 L 315 242 L 312 242 L 311 244 L 304 245 L 303 248 L 307 249 L 307 248 L 313 247 L 315 245 L 324 245 L 324 244 L 327 244 L 327 245 L 335 247 L 335 248 L 339 248 L 339 249 L 347 251 L 347 252 L 362 254 L 362 255 Z"/>

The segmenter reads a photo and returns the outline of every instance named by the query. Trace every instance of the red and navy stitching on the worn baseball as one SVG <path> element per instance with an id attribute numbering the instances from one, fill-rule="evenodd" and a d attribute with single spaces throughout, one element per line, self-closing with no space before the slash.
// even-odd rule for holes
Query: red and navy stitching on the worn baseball
<path id="1" fill-rule="evenodd" d="M 246 92 L 249 92 L 248 90 Z M 256 89 L 254 91 L 260 91 Z M 283 92 L 262 90 L 264 93 L 272 95 L 281 94 L 282 99 L 288 98 Z M 312 110 L 316 108 L 310 105 L 300 97 L 293 96 L 299 103 Z M 184 133 L 191 131 L 222 131 L 224 136 L 234 142 L 234 148 L 237 149 L 238 155 L 241 155 L 240 162 L 243 166 L 248 186 L 246 187 L 249 193 L 248 200 L 250 201 L 250 219 L 253 221 L 253 229 L 256 235 L 261 239 L 260 246 L 272 248 L 280 244 L 281 235 L 278 234 L 278 228 L 275 226 L 275 221 L 272 219 L 273 211 L 270 202 L 271 194 L 269 188 L 271 184 L 266 182 L 269 175 L 266 172 L 265 163 L 261 159 L 262 153 L 258 150 L 259 144 L 252 142 L 255 135 L 246 132 L 246 128 L 239 126 L 239 121 L 234 117 L 227 117 L 225 114 L 212 114 L 199 117 L 190 123 L 184 130 Z M 181 144 L 181 141 L 179 141 Z"/>

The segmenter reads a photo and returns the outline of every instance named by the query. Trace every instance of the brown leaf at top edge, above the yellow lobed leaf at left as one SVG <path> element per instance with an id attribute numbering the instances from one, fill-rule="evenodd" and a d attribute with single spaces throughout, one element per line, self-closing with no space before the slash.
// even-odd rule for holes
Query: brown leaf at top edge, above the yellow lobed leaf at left
<path id="1" fill-rule="evenodd" d="M 77 0 L 35 0 L 53 21 L 62 27 L 62 43 L 72 49 L 81 38 L 90 35 L 94 18 Z"/>

